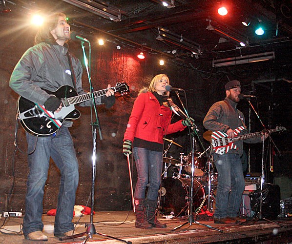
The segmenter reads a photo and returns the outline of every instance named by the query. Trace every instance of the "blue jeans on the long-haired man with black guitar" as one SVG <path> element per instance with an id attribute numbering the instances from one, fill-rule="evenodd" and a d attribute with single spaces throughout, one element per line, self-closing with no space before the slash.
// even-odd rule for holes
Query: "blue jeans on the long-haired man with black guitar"
<path id="1" fill-rule="evenodd" d="M 56 134 L 35 137 L 26 133 L 29 173 L 25 196 L 23 234 L 43 229 L 42 200 L 47 180 L 50 157 L 61 172 L 54 234 L 60 235 L 74 229 L 72 223 L 75 193 L 78 186 L 78 161 L 67 127 L 62 126 Z"/>

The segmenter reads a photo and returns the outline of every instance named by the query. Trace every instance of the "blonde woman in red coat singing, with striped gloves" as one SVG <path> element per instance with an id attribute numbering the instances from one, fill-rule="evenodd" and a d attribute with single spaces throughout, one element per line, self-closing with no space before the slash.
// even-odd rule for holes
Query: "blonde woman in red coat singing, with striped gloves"
<path id="1" fill-rule="evenodd" d="M 134 194 L 137 228 L 167 227 L 156 218 L 163 167 L 163 137 L 190 126 L 188 120 L 170 124 L 172 112 L 164 104 L 169 96 L 168 84 L 168 77 L 160 74 L 153 78 L 149 88 L 140 90 L 124 135 L 123 153 L 131 154 L 133 146 L 138 174 Z"/>

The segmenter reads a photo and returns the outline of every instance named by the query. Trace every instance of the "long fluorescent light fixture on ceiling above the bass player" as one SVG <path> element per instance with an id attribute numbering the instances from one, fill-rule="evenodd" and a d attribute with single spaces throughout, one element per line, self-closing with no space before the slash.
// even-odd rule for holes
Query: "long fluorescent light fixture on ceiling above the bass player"
<path id="1" fill-rule="evenodd" d="M 246 56 L 233 57 L 221 60 L 213 60 L 212 66 L 223 67 L 230 66 L 242 63 L 250 63 L 250 62 L 259 62 L 259 61 L 268 61 L 275 59 L 275 52 L 266 52 L 266 53 L 258 53 L 258 54 L 250 54 Z"/>

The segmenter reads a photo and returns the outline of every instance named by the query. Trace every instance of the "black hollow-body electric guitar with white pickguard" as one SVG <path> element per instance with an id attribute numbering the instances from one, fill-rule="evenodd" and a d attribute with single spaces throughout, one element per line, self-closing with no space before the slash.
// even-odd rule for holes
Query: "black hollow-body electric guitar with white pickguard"
<path id="1" fill-rule="evenodd" d="M 108 89 L 120 92 L 122 95 L 129 90 L 126 83 L 117 83 L 115 87 L 95 91 L 94 98 L 102 97 Z M 17 101 L 18 118 L 22 127 L 30 134 L 36 136 L 48 136 L 58 131 L 64 120 L 77 120 L 80 112 L 75 109 L 74 104 L 85 102 L 91 99 L 91 94 L 78 95 L 75 89 L 69 85 L 61 86 L 53 94 L 62 101 L 62 109 L 58 113 L 52 113 L 43 105 L 31 102 L 23 97 Z"/>

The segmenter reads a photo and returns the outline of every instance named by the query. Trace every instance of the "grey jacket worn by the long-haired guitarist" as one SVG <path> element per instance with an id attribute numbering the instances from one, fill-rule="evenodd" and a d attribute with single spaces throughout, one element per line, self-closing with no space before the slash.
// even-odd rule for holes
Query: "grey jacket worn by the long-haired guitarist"
<path id="1" fill-rule="evenodd" d="M 41 42 L 29 48 L 16 64 L 9 85 L 23 98 L 31 102 L 43 105 L 50 97 L 43 89 L 56 91 L 63 85 L 74 87 L 71 76 L 71 68 L 67 57 L 68 47 L 65 44 Z M 72 67 L 76 77 L 76 91 L 79 95 L 85 94 L 82 88 L 82 65 L 80 61 L 71 55 Z M 96 99 L 97 104 L 102 102 L 114 104 L 114 96 L 105 96 Z M 82 102 L 79 105 L 91 105 L 91 101 Z M 109 104 L 106 104 L 110 107 Z M 65 122 L 66 126 L 72 123 Z"/>

